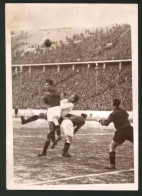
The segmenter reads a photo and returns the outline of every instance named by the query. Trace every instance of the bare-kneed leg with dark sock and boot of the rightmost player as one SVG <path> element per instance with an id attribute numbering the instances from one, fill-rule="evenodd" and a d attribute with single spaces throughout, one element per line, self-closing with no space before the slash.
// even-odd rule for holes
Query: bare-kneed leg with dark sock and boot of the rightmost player
<path id="1" fill-rule="evenodd" d="M 115 141 L 111 141 L 110 145 L 109 145 L 109 161 L 110 161 L 110 165 L 105 167 L 105 169 L 115 169 L 115 149 L 116 147 L 120 145 L 119 143 L 115 142 Z"/>

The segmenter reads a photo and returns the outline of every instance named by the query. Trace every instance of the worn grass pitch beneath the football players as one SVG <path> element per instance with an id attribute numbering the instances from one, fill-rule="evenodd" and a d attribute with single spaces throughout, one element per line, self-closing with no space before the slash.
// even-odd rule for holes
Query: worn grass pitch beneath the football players
<path id="1" fill-rule="evenodd" d="M 113 125 L 103 127 L 94 121 L 75 134 L 70 147 L 71 158 L 62 157 L 65 136 L 46 157 L 41 152 L 48 131 L 47 122 L 37 120 L 21 125 L 13 121 L 14 183 L 17 185 L 82 185 L 134 183 L 133 144 L 125 142 L 116 150 L 116 170 L 108 171 L 108 146 Z"/>

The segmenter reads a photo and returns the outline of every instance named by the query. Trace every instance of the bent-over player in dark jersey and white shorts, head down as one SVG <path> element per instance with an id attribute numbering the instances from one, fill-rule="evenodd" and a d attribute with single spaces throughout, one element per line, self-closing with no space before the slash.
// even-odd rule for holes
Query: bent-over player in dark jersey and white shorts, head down
<path id="1" fill-rule="evenodd" d="M 61 130 L 63 130 L 66 135 L 65 144 L 62 151 L 63 157 L 71 157 L 68 151 L 73 135 L 85 124 L 86 118 L 87 115 L 82 113 L 81 116 L 71 115 L 69 118 L 65 118 L 63 120 L 61 124 Z"/>

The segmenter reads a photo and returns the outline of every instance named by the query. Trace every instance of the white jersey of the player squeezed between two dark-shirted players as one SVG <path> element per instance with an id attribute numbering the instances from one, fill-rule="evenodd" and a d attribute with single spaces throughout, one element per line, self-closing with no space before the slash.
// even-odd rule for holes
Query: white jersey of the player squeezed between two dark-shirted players
<path id="1" fill-rule="evenodd" d="M 68 102 L 68 99 L 63 99 L 60 101 L 60 109 L 61 109 L 61 116 L 64 117 L 70 113 L 70 111 L 74 108 L 74 104 Z"/>

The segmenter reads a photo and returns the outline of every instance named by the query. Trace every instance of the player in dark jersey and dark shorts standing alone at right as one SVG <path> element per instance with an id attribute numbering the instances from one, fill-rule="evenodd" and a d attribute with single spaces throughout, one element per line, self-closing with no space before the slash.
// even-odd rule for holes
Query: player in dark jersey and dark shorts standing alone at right
<path id="1" fill-rule="evenodd" d="M 133 143 L 133 127 L 128 120 L 129 114 L 120 105 L 119 99 L 113 99 L 113 112 L 108 116 L 107 120 L 99 120 L 101 125 L 108 126 L 113 122 L 116 132 L 109 146 L 110 166 L 106 169 L 115 169 L 115 149 L 118 145 L 126 140 Z"/>

